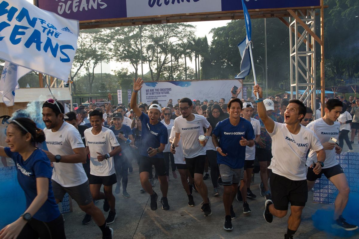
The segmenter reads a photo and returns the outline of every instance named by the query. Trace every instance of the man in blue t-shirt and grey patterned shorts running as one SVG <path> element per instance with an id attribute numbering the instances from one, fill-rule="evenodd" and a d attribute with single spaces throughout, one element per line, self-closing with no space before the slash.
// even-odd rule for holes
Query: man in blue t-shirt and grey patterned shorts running
<path id="1" fill-rule="evenodd" d="M 229 118 L 220 121 L 213 130 L 212 142 L 217 150 L 217 163 L 224 186 L 223 204 L 225 230 L 232 230 L 233 200 L 237 195 L 238 183 L 243 179 L 246 146 L 254 145 L 254 130 L 250 121 L 241 117 L 243 103 L 238 98 L 228 102 Z M 220 139 L 218 142 L 218 138 Z"/>

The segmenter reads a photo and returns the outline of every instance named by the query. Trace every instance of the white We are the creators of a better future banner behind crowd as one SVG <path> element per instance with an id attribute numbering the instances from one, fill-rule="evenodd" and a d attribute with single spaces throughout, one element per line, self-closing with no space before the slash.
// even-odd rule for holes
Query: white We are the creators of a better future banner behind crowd
<path id="1" fill-rule="evenodd" d="M 232 95 L 230 90 L 233 86 L 242 86 L 239 80 L 213 80 L 213 81 L 157 81 L 144 82 L 141 92 L 141 102 L 150 105 L 153 100 L 157 100 L 162 106 L 167 105 L 169 99 L 177 102 L 183 97 L 191 100 L 214 100 L 221 98 L 228 102 Z M 242 99 L 241 92 L 238 98 Z"/>

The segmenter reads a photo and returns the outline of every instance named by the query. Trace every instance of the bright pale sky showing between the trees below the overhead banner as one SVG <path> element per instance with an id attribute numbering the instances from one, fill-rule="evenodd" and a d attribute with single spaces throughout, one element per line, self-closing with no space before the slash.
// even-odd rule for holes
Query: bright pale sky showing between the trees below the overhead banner
<path id="1" fill-rule="evenodd" d="M 27 0 L 27 1 L 33 4 L 33 0 Z M 210 30 L 213 28 L 222 27 L 228 22 L 230 22 L 230 20 L 198 21 L 198 22 L 191 22 L 188 24 L 192 24 L 196 27 L 195 30 L 196 37 L 207 36 L 208 43 L 211 44 L 213 34 L 209 34 Z M 194 61 L 193 62 L 187 61 L 187 64 L 189 67 L 193 67 L 193 68 L 195 67 Z M 102 67 L 101 64 L 99 64 L 95 68 L 95 73 L 101 73 L 101 68 L 102 68 L 102 73 L 113 73 L 112 72 L 113 70 L 118 70 L 121 67 L 127 67 L 131 72 L 134 71 L 134 68 L 129 63 L 120 63 L 120 62 L 111 61 L 110 63 L 102 63 Z M 144 64 L 143 73 L 145 74 L 148 71 L 149 71 L 149 67 L 147 66 L 147 64 Z M 139 73 L 141 73 L 141 66 L 139 67 Z"/>

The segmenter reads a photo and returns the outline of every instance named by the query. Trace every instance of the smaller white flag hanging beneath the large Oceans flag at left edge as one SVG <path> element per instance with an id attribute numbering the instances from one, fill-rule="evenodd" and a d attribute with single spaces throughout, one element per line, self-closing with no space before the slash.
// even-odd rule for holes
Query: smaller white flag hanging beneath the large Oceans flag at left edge
<path id="1" fill-rule="evenodd" d="M 0 79 L 0 95 L 6 106 L 13 106 L 15 100 L 15 89 L 18 89 L 18 80 L 31 70 L 5 62 Z"/>

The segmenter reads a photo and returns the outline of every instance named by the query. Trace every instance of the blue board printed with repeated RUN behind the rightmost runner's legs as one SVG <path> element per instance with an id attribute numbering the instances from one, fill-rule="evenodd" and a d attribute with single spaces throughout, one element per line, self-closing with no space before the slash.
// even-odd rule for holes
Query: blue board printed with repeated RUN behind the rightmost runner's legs
<path id="1" fill-rule="evenodd" d="M 336 154 L 336 159 L 345 173 L 351 193 L 359 193 L 359 152 L 342 152 Z M 337 188 L 324 175 L 316 180 L 313 190 L 313 201 L 324 204 L 334 204 L 338 194 Z"/>

